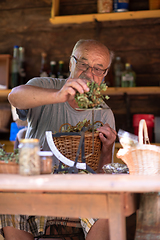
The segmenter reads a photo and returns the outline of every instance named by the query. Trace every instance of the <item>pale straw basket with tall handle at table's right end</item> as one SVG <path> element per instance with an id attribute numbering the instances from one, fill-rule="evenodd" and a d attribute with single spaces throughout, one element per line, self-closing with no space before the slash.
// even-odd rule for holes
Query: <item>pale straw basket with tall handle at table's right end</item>
<path id="1" fill-rule="evenodd" d="M 144 137 L 143 137 L 144 132 Z M 149 143 L 147 125 L 144 119 L 139 123 L 139 144 L 137 147 L 119 149 L 117 157 L 129 168 L 130 174 L 160 174 L 160 147 Z M 143 144 L 144 142 L 144 144 Z"/>

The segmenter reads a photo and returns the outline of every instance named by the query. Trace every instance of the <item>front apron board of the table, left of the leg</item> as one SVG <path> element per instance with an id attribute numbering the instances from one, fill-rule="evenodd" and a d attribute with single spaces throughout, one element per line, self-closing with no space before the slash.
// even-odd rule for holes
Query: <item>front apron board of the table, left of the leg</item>
<path id="1" fill-rule="evenodd" d="M 3 214 L 108 218 L 106 212 L 106 194 L 0 193 Z"/>

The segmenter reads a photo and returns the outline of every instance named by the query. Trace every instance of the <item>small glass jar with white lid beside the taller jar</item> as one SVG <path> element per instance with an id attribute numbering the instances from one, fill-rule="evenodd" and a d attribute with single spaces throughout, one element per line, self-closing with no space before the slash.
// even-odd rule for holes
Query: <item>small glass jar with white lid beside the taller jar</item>
<path id="1" fill-rule="evenodd" d="M 50 151 L 40 151 L 38 155 L 40 157 L 41 174 L 51 173 L 53 153 Z"/>

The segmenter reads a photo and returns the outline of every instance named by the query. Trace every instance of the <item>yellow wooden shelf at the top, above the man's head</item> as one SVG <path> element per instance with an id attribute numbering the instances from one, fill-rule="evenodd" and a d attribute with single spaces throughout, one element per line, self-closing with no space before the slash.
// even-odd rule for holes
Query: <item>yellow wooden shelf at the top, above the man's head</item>
<path id="1" fill-rule="evenodd" d="M 145 10 L 145 11 L 127 11 L 118 13 L 94 13 L 81 15 L 58 16 L 59 0 L 52 0 L 51 18 L 52 24 L 72 24 L 97 21 L 115 21 L 115 20 L 131 20 L 140 18 L 158 18 L 160 10 Z"/>

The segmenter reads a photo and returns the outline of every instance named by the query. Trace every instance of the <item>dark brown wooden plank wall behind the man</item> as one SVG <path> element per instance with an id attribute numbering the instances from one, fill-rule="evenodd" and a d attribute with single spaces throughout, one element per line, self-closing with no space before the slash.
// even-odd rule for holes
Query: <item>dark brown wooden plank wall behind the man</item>
<path id="1" fill-rule="evenodd" d="M 130 0 L 130 10 L 147 10 L 148 0 Z M 63 60 L 65 72 L 72 48 L 81 38 L 94 38 L 106 44 L 123 62 L 130 62 L 137 74 L 137 86 L 160 85 L 160 18 L 92 22 L 53 26 L 49 22 L 51 0 L 0 1 L 0 54 L 13 53 L 13 46 L 25 48 L 27 80 L 39 75 L 41 52 L 51 60 Z M 60 0 L 60 15 L 97 12 L 96 0 Z M 106 79 L 114 85 L 110 69 Z M 159 97 L 158 97 L 159 100 Z M 116 116 L 117 128 L 132 125 L 134 113 L 160 115 L 157 97 L 131 99 L 127 120 L 124 97 L 108 101 Z M 124 121 L 124 116 L 125 120 Z M 131 129 L 131 128 L 130 128 Z M 133 129 L 131 129 L 133 130 Z"/>

